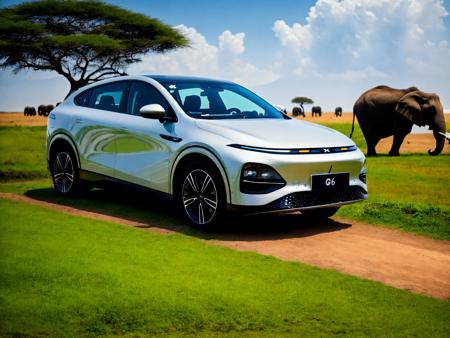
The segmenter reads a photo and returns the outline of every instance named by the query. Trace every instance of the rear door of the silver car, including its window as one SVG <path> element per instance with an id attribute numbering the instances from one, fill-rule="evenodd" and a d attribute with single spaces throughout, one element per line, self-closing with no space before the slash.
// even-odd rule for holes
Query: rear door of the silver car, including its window
<path id="1" fill-rule="evenodd" d="M 116 161 L 115 137 L 119 116 L 126 110 L 129 82 L 118 81 L 91 89 L 87 109 L 74 122 L 81 168 L 113 176 Z"/>

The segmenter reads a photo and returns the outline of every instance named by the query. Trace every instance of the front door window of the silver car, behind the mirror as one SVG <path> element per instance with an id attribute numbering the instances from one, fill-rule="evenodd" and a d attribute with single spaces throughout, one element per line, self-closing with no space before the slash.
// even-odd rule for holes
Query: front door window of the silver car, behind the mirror
<path id="1" fill-rule="evenodd" d="M 169 103 L 155 87 L 144 82 L 133 82 L 128 95 L 127 113 L 139 115 L 139 109 L 148 104 L 160 104 L 170 111 Z"/>

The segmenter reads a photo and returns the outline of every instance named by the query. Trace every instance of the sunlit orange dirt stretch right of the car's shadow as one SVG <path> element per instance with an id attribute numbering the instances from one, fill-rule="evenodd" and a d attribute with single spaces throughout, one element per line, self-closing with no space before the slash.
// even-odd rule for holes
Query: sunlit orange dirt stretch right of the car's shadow
<path id="1" fill-rule="evenodd" d="M 337 218 L 340 222 L 348 220 Z M 258 240 L 235 238 L 218 242 L 237 250 L 301 261 L 346 274 L 429 295 L 450 298 L 450 242 L 352 222 L 335 232 Z"/>

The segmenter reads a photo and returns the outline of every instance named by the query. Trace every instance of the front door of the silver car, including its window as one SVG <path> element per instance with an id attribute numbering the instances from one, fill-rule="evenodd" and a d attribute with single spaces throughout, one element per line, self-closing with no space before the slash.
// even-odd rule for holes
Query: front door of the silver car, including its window
<path id="1" fill-rule="evenodd" d="M 147 119 L 139 109 L 160 104 L 174 114 L 163 95 L 151 84 L 133 81 L 128 94 L 127 114 L 121 115 L 116 137 L 115 177 L 158 191 L 169 192 L 169 157 L 179 145 L 177 123 Z"/>

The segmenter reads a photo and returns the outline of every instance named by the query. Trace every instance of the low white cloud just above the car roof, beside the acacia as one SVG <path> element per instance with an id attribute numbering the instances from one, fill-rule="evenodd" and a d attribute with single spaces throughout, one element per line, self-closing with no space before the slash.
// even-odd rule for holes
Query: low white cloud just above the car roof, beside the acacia
<path id="1" fill-rule="evenodd" d="M 279 78 L 273 71 L 260 69 L 240 58 L 245 51 L 244 33 L 226 30 L 219 35 L 218 45 L 213 45 L 193 27 L 175 28 L 188 38 L 190 47 L 146 56 L 141 63 L 130 67 L 129 73 L 207 76 L 247 86 L 266 85 Z"/>

